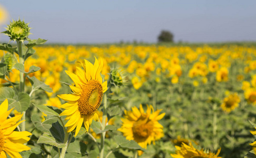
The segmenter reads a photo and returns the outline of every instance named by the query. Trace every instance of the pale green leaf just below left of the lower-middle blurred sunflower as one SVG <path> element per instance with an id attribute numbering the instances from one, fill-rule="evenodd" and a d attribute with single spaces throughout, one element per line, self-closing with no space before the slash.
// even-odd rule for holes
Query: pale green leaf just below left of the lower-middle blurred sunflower
<path id="1" fill-rule="evenodd" d="M 137 144 L 135 141 L 131 140 L 128 141 L 125 139 L 124 136 L 122 135 L 115 135 L 114 136 L 114 140 L 115 142 L 123 148 L 127 148 L 127 149 L 134 149 L 134 150 L 142 150 L 145 151 L 145 149 L 143 149 L 139 144 Z"/>

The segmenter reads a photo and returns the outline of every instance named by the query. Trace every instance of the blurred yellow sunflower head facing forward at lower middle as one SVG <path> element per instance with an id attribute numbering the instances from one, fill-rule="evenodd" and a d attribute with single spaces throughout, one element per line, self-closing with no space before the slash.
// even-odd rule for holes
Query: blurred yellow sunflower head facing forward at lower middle
<path id="1" fill-rule="evenodd" d="M 147 105 L 146 112 L 142 105 L 140 105 L 140 109 L 134 106 L 132 111 L 125 110 L 125 116 L 121 118 L 123 124 L 118 131 L 121 131 L 127 140 L 134 140 L 146 149 L 147 144 L 151 144 L 151 142 L 154 144 L 156 140 L 160 140 L 164 136 L 163 126 L 158 122 L 165 115 L 165 113 L 159 115 L 161 111 L 154 112 L 152 105 Z M 139 155 L 142 153 L 139 151 Z"/>

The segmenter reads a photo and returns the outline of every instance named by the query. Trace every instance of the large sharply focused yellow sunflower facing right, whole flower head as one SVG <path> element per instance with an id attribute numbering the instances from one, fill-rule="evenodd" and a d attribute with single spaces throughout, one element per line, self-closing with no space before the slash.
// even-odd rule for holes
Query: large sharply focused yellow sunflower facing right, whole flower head
<path id="1" fill-rule="evenodd" d="M 88 132 L 92 120 L 99 120 L 96 111 L 101 105 L 103 93 L 107 90 L 107 82 L 102 83 L 100 74 L 103 61 L 98 61 L 95 57 L 94 65 L 86 60 L 85 64 L 81 64 L 84 70 L 76 67 L 76 74 L 66 71 L 75 83 L 75 86 L 70 85 L 73 93 L 57 95 L 67 101 L 67 103 L 61 105 L 61 108 L 66 110 L 60 115 L 67 115 L 65 118 L 65 120 L 68 120 L 65 124 L 67 132 L 72 132 L 76 127 L 75 136 L 80 131 L 83 123 Z"/>

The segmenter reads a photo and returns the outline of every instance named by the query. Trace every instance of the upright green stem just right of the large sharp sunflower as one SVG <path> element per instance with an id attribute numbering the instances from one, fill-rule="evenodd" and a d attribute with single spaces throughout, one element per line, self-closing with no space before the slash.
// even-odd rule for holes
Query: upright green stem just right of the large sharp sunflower
<path id="1" fill-rule="evenodd" d="M 106 116 L 107 116 L 107 112 L 106 112 L 106 106 L 107 106 L 107 95 L 104 94 L 103 96 L 103 116 L 102 116 L 102 129 L 105 129 L 105 122 L 106 122 Z M 101 134 L 101 150 L 100 150 L 100 158 L 104 157 L 104 141 L 105 141 L 105 135 L 106 132 L 103 132 Z"/>

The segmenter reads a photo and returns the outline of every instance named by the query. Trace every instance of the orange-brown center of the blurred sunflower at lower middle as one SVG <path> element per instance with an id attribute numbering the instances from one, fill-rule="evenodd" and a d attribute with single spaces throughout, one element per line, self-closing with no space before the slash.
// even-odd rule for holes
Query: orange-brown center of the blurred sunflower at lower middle
<path id="1" fill-rule="evenodd" d="M 149 118 L 142 117 L 133 124 L 132 132 L 135 139 L 146 139 L 151 135 L 153 129 L 154 123 Z"/>

